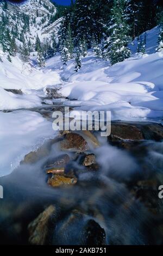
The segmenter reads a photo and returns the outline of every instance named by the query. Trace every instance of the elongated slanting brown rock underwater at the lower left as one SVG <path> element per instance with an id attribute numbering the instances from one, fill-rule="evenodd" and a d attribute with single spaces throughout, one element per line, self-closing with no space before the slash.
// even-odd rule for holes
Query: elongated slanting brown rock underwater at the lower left
<path id="1" fill-rule="evenodd" d="M 28 225 L 29 243 L 32 245 L 45 245 L 48 236 L 49 220 L 55 214 L 55 207 L 50 205 L 33 222 Z"/>

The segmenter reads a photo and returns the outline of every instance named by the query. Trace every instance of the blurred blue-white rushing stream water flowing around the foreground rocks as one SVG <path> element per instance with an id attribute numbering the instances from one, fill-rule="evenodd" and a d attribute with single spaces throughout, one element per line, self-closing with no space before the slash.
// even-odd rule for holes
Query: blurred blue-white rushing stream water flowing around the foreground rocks
<path id="1" fill-rule="evenodd" d="M 54 107 L 33 110 L 51 120 Z M 163 142 L 143 141 L 130 152 L 109 144 L 98 132 L 96 136 L 101 146 L 94 149 L 90 145 L 89 152 L 96 155 L 99 171 L 86 170 L 77 153 L 61 151 L 61 138 L 57 138 L 43 145 L 45 154 L 34 163 L 21 163 L 0 179 L 4 188 L 0 243 L 28 243 L 28 224 L 49 205 L 57 209 L 55 225 L 51 225 L 52 244 L 81 244 L 80 230 L 88 220 L 105 230 L 107 245 L 163 242 L 163 204 L 158 198 L 158 186 L 163 184 Z M 68 168 L 73 169 L 78 182 L 67 188 L 49 187 L 44 167 L 65 153 L 70 157 Z M 146 180 L 152 185 L 137 185 Z M 70 222 L 72 216 L 74 221 Z"/>

